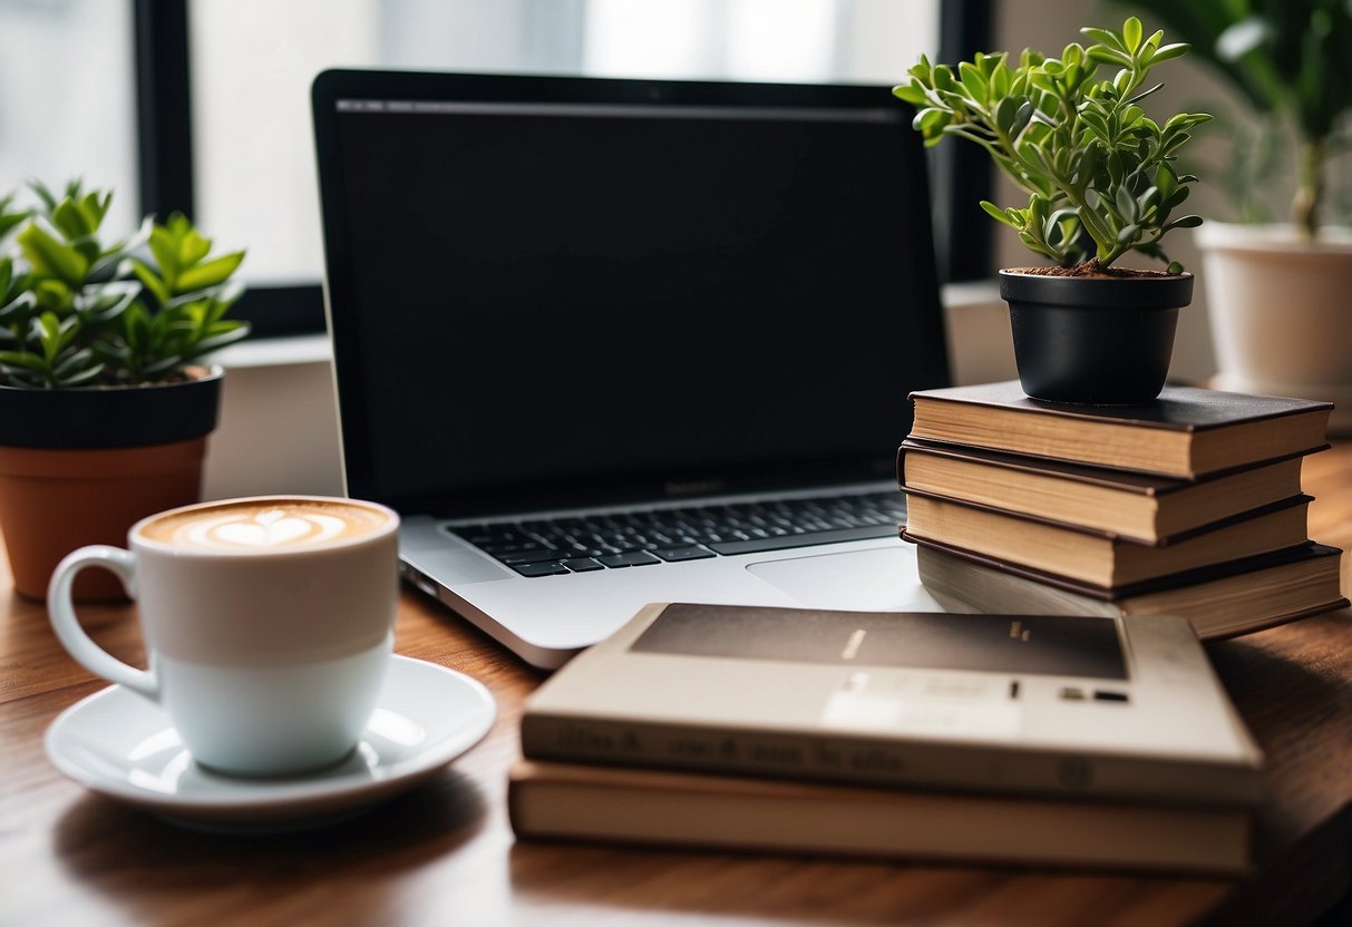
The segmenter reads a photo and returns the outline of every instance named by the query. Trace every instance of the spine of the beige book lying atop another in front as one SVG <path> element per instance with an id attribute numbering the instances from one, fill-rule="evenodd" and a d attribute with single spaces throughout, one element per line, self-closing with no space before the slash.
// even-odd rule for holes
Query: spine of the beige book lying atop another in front
<path id="1" fill-rule="evenodd" d="M 1252 770 L 1136 757 L 1009 751 L 792 731 L 722 730 L 527 712 L 522 754 L 854 785 L 1014 791 L 1040 795 L 1249 804 Z"/>

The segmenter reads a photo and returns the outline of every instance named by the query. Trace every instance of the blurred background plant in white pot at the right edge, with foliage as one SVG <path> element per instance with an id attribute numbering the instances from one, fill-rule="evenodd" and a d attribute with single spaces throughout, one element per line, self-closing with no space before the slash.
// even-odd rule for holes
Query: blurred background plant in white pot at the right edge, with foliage
<path id="1" fill-rule="evenodd" d="M 1329 431 L 1352 434 L 1352 209 L 1329 214 L 1329 162 L 1352 145 L 1352 5 L 1343 0 L 1138 3 L 1257 114 L 1284 149 L 1236 172 L 1236 223 L 1198 232 L 1207 272 L 1215 385 L 1334 403 Z M 1242 136 L 1240 136 L 1242 138 Z M 1234 150 L 1251 164 L 1252 139 Z M 1272 222 L 1255 191 L 1287 197 Z M 1247 214 L 1247 215 L 1245 215 Z"/>

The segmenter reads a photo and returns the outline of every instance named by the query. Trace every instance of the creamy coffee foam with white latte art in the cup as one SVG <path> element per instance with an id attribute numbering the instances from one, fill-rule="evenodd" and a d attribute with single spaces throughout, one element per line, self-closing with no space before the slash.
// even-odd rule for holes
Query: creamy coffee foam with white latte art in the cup
<path id="1" fill-rule="evenodd" d="M 189 550 L 268 551 L 319 547 L 370 534 L 389 523 L 383 512 L 341 501 L 277 499 L 173 512 L 141 534 Z"/>

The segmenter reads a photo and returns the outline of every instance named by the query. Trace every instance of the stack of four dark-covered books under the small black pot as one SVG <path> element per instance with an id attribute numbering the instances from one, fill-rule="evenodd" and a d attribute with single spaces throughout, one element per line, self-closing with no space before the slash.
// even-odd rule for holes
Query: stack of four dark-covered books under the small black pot
<path id="1" fill-rule="evenodd" d="M 1072 405 L 1014 381 L 911 400 L 902 536 L 945 608 L 1174 613 L 1207 639 L 1347 604 L 1301 492 L 1329 403 L 1167 386 Z"/>

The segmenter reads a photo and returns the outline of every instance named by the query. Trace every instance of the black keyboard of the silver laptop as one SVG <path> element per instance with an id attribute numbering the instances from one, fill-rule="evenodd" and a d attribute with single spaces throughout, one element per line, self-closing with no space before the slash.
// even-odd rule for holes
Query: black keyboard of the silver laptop
<path id="1" fill-rule="evenodd" d="M 899 492 L 660 508 L 450 530 L 522 576 L 557 576 L 896 536 Z"/>

